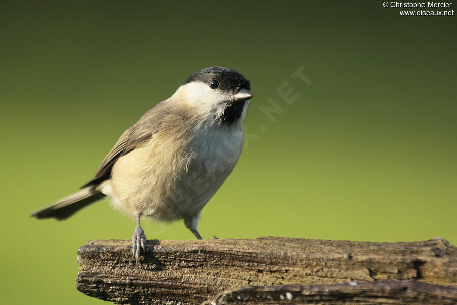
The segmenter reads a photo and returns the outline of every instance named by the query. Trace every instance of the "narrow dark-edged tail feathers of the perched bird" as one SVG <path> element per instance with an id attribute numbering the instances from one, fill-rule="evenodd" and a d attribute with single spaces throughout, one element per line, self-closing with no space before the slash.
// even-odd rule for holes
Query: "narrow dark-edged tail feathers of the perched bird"
<path id="1" fill-rule="evenodd" d="M 55 218 L 57 220 L 66 219 L 80 209 L 89 204 L 106 197 L 101 191 L 90 186 L 81 189 L 79 192 L 68 197 L 60 199 L 51 206 L 39 210 L 32 214 L 32 217 L 40 218 Z"/>

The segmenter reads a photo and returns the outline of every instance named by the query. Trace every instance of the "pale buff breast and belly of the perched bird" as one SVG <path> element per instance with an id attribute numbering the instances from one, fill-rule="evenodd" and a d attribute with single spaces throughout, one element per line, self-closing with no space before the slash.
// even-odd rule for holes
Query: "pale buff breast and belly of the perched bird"
<path id="1" fill-rule="evenodd" d="M 238 128 L 200 130 L 187 142 L 165 136 L 159 132 L 113 167 L 113 197 L 128 214 L 164 221 L 198 214 L 232 172 L 244 138 Z"/>

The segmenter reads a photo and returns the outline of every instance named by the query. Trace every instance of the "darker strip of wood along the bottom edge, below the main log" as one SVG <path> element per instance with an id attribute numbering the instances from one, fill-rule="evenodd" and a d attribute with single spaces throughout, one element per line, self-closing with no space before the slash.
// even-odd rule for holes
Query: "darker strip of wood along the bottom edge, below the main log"
<path id="1" fill-rule="evenodd" d="M 457 288 L 417 281 L 350 282 L 331 285 L 251 286 L 222 292 L 204 305 L 421 304 L 455 305 Z"/>

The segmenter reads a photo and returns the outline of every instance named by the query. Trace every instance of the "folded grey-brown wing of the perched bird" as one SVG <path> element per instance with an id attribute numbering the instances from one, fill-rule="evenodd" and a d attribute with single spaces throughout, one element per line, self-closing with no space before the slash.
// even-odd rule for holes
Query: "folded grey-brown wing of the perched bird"
<path id="1" fill-rule="evenodd" d="M 160 130 L 162 120 L 169 114 L 169 111 L 166 111 L 167 107 L 164 107 L 165 102 L 161 102 L 150 109 L 137 123 L 121 135 L 103 160 L 93 179 L 83 185 L 82 188 L 98 185 L 104 180 L 109 179 L 113 165 L 120 157 L 130 153 L 130 151 L 137 147 L 143 146 L 144 143 L 149 141 Z"/>

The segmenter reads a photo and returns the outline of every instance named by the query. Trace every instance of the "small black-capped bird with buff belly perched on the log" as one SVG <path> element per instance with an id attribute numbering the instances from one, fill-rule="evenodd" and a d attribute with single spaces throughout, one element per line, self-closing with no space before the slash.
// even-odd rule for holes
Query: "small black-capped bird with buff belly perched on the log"
<path id="1" fill-rule="evenodd" d="M 146 252 L 141 217 L 184 220 L 197 239 L 200 212 L 240 157 L 250 81 L 226 67 L 191 74 L 117 140 L 93 179 L 32 217 L 63 220 L 106 197 L 132 216 L 132 255 Z"/>

